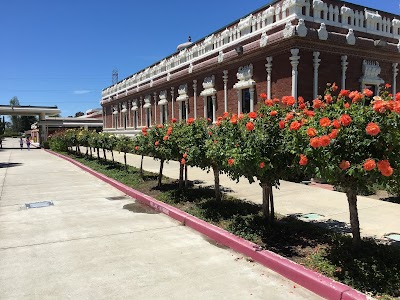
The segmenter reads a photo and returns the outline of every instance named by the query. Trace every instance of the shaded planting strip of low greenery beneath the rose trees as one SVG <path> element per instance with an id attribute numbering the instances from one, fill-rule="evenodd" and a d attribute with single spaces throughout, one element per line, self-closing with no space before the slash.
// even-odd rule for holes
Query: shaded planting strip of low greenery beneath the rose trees
<path id="1" fill-rule="evenodd" d="M 176 180 L 163 178 L 157 188 L 157 175 L 97 159 L 70 157 L 123 184 L 175 206 L 193 216 L 250 240 L 330 278 L 380 299 L 400 296 L 400 247 L 363 239 L 361 251 L 353 254 L 351 237 L 294 217 L 277 216 L 266 222 L 255 203 L 225 196 L 214 200 L 214 190 L 192 184 L 178 189 Z M 178 173 L 178 170 L 177 170 Z"/>

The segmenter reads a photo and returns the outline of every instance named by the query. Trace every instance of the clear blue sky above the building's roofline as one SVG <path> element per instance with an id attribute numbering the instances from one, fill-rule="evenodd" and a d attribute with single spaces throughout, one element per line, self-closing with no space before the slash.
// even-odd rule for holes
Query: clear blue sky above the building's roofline
<path id="1" fill-rule="evenodd" d="M 0 104 L 100 107 L 112 70 L 123 79 L 266 0 L 13 0 L 0 9 Z M 353 0 L 400 14 L 400 0 Z"/>

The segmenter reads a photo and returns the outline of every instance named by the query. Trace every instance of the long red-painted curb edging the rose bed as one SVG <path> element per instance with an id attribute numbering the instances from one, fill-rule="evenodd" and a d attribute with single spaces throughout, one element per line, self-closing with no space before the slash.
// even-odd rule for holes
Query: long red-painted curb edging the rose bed
<path id="1" fill-rule="evenodd" d="M 89 167 L 67 156 L 47 149 L 45 149 L 45 151 L 71 162 L 72 164 L 80 167 L 86 172 L 89 172 L 97 178 L 109 183 L 113 187 L 119 189 L 121 192 L 212 238 L 217 243 L 225 245 L 237 252 L 251 257 L 254 261 L 261 263 L 269 269 L 296 282 L 297 284 L 300 284 L 301 286 L 309 289 L 310 291 L 316 293 L 321 297 L 335 300 L 368 299 L 365 294 L 358 292 L 357 290 L 345 284 L 334 281 L 317 272 L 311 271 L 276 253 L 268 250 L 261 250 L 256 244 L 250 241 L 237 237 L 234 234 L 227 232 L 226 230 L 211 225 L 173 206 L 160 202 L 150 196 L 136 191 L 112 178 L 109 178 L 101 173 L 90 169 Z"/>

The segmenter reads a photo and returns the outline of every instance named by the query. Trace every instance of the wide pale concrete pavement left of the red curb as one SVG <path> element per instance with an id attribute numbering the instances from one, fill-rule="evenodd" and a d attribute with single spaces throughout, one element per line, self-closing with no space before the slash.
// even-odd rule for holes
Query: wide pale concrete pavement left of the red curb
<path id="1" fill-rule="evenodd" d="M 63 159 L 3 146 L 0 299 L 319 299 Z M 38 201 L 54 205 L 26 209 Z"/>

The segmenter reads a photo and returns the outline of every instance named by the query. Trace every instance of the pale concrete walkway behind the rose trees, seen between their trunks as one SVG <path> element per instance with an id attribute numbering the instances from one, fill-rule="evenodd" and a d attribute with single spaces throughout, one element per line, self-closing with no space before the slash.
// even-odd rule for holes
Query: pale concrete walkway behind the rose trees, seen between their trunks
<path id="1" fill-rule="evenodd" d="M 111 153 L 106 153 L 111 159 Z M 103 157 L 102 151 L 100 156 Z M 123 163 L 123 154 L 114 152 L 117 161 Z M 128 164 L 140 167 L 140 156 L 128 154 Z M 158 173 L 159 161 L 145 157 L 143 168 Z M 179 178 L 179 164 L 170 161 L 164 164 L 165 176 Z M 199 168 L 189 168 L 189 180 L 200 182 L 202 186 L 214 186 L 213 173 Z M 220 175 L 220 185 L 228 194 L 235 197 L 262 203 L 262 190 L 258 183 L 249 184 L 246 179 L 239 183 Z M 274 189 L 275 211 L 282 215 L 317 213 L 321 217 L 312 220 L 340 232 L 350 233 L 350 216 L 347 198 L 344 193 L 322 189 L 315 186 L 282 181 L 280 189 Z M 385 202 L 368 197 L 358 197 L 358 211 L 361 235 L 385 240 L 389 233 L 400 233 L 400 204 Z M 307 219 L 303 219 L 308 221 Z"/>

